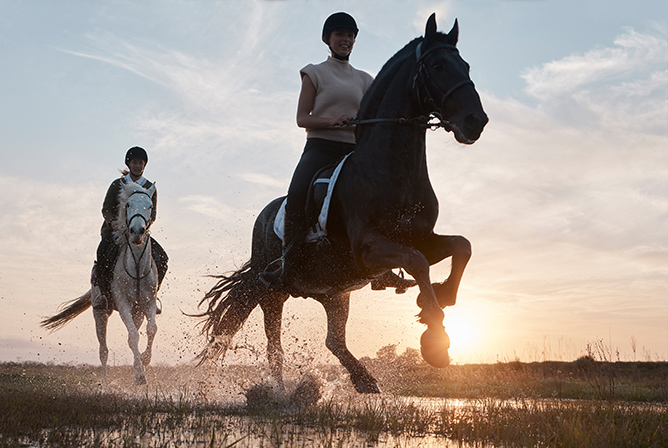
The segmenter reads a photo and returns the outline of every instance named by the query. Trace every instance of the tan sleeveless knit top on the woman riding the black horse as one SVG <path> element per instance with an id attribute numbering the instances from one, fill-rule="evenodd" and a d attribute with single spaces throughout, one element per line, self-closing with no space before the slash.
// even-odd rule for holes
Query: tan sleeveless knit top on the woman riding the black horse
<path id="1" fill-rule="evenodd" d="M 355 117 L 360 102 L 373 77 L 358 70 L 348 61 L 328 57 L 317 65 L 309 64 L 299 73 L 308 75 L 316 89 L 313 111 L 316 117 L 335 118 L 341 115 Z M 324 138 L 337 142 L 355 143 L 355 127 L 307 129 L 307 138 Z"/>

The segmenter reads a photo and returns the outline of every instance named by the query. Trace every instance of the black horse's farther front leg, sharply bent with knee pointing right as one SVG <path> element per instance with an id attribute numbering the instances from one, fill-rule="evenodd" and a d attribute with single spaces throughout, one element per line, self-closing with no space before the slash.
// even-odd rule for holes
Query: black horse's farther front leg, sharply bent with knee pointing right
<path id="1" fill-rule="evenodd" d="M 452 257 L 450 276 L 443 283 L 434 283 L 432 286 L 441 308 L 453 306 L 457 302 L 459 284 L 464 275 L 464 269 L 471 258 L 471 243 L 459 235 L 437 235 L 432 233 L 429 238 L 418 245 L 430 265 Z M 423 306 L 426 297 L 418 296 L 418 305 Z"/>

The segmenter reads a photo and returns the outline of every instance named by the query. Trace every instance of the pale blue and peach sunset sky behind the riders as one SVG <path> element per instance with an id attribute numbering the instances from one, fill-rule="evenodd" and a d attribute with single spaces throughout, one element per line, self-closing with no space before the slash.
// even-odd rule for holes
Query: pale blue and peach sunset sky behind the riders
<path id="1" fill-rule="evenodd" d="M 253 221 L 285 194 L 304 145 L 299 69 L 352 14 L 351 63 L 372 75 L 459 22 L 490 122 L 472 146 L 429 131 L 436 231 L 473 246 L 445 310 L 453 362 L 668 360 L 668 4 L 663 0 L 0 1 L 0 361 L 96 364 L 92 313 L 39 321 L 89 288 L 104 194 L 148 151 L 152 235 L 170 256 L 154 362 L 202 348 L 197 304 L 250 256 Z M 449 273 L 444 261 L 432 280 Z M 417 290 L 352 295 L 358 357 L 418 348 Z M 335 362 L 313 300 L 290 299 L 289 368 Z M 118 315 L 111 363 L 130 362 Z M 263 362 L 261 312 L 230 362 Z"/>

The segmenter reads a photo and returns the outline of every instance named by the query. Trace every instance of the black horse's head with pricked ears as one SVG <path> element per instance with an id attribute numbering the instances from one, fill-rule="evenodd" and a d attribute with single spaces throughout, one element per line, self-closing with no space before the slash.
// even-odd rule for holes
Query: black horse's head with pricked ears
<path id="1" fill-rule="evenodd" d="M 478 140 L 489 121 L 469 77 L 469 65 L 457 50 L 457 20 L 448 34 L 436 31 L 436 14 L 427 20 L 425 36 L 416 48 L 414 78 L 420 108 L 440 116 L 460 143 Z"/>

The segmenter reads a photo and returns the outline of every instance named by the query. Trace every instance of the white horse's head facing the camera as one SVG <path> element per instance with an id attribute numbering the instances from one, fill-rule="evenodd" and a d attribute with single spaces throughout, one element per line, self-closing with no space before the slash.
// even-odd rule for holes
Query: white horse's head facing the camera
<path id="1" fill-rule="evenodd" d="M 151 211 L 153 209 L 152 197 L 155 193 L 155 185 L 145 190 L 137 184 L 127 184 L 121 193 L 122 215 L 127 229 L 128 241 L 139 246 L 144 243 L 148 235 L 148 227 L 151 222 Z"/>

